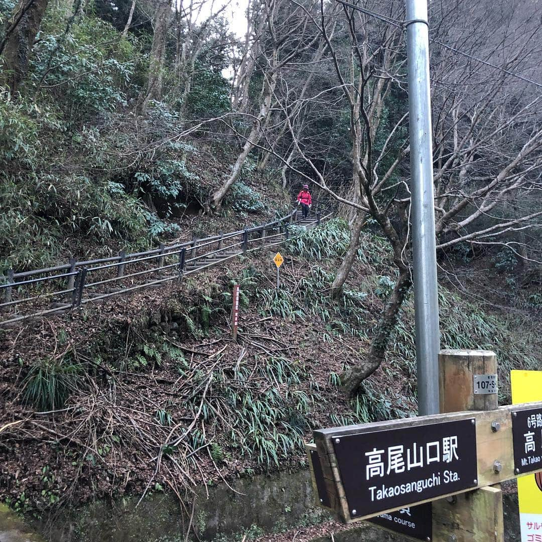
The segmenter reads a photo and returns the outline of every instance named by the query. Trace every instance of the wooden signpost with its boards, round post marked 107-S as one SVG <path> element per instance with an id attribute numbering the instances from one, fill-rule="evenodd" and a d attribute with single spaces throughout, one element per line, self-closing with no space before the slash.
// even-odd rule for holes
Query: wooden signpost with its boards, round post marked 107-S
<path id="1" fill-rule="evenodd" d="M 496 485 L 518 465 L 521 474 L 540 469 L 542 444 L 532 448 L 520 421 L 542 416 L 542 402 L 498 408 L 493 352 L 442 351 L 439 362 L 441 414 L 314 432 L 317 501 L 345 523 L 371 520 L 414 540 L 502 542 Z M 413 519 L 427 518 L 425 503 L 429 532 Z"/>

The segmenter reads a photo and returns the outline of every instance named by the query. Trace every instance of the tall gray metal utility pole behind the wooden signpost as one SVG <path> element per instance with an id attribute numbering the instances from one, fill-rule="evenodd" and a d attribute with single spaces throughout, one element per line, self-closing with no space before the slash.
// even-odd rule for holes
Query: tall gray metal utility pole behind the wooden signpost
<path id="1" fill-rule="evenodd" d="M 438 414 L 438 328 L 427 0 L 405 0 L 418 415 Z"/>

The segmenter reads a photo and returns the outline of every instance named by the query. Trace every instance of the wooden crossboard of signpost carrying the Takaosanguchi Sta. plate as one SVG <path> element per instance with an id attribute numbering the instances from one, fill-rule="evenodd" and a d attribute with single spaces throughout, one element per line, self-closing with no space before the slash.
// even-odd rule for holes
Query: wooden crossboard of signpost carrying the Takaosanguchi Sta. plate
<path id="1" fill-rule="evenodd" d="M 350 523 L 515 478 L 512 413 L 533 409 L 542 402 L 314 431 L 330 509 Z"/>

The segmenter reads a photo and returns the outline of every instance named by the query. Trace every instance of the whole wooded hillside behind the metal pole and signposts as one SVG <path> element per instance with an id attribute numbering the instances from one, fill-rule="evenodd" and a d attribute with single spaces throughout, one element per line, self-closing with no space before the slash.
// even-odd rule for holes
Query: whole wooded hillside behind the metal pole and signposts
<path id="1" fill-rule="evenodd" d="M 541 362 L 540 8 L 430 9 L 441 346 L 494 350 L 503 404 L 509 370 Z M 185 507 L 305 466 L 314 428 L 416 412 L 404 18 L 396 0 L 0 0 L 0 321 L 24 315 L 17 275 L 269 223 L 305 184 L 314 221 L 0 327 L 2 502 Z"/>

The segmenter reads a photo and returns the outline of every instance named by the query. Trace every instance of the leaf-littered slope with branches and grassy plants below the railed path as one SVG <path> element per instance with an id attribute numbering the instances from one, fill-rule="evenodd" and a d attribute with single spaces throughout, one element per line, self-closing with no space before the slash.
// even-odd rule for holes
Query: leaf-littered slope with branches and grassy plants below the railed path
<path id="1" fill-rule="evenodd" d="M 21 391 L 12 401 L 17 408 L 59 412 L 50 420 L 42 415 L 40 431 L 60 438 L 58 446 L 69 458 L 62 469 L 74 480 L 83 477 L 83 486 L 105 487 L 114 496 L 128 490 L 111 486 L 112 472 L 117 479 L 131 473 L 131 491 L 138 494 L 172 487 L 185 495 L 214 476 L 201 472 L 204 464 L 212 473 L 233 476 L 241 466 L 246 475 L 304 466 L 304 443 L 314 428 L 413 415 L 411 297 L 380 369 L 355 398 L 341 390 L 344 373 L 363 362 L 376 315 L 396 280 L 389 250 L 365 232 L 348 287 L 330 296 L 334 259 L 344 249 L 340 240 L 346 231 L 344 222 L 330 221 L 295 232 L 283 251 L 287 262 L 279 289 L 266 278 L 274 270 L 270 257 L 244 260 L 237 270 L 208 280 L 190 279 L 180 296 L 163 300 L 158 314 L 140 314 L 107 338 L 98 335 L 91 356 L 69 349 L 67 334 L 58 331 L 60 351 L 68 348 L 67 353 L 22 357 L 15 377 Z M 243 315 L 237 343 L 227 329 L 234 284 L 241 288 Z M 446 288 L 439 301 L 442 347 L 495 350 L 500 399 L 508 402 L 508 371 L 537 365 L 536 338 Z M 15 429 L 5 435 L 17 441 Z M 48 467 L 47 461 L 40 468 Z M 26 467 L 17 463 L 17 468 Z M 40 515 L 59 502 L 57 485 L 44 491 L 47 502 L 14 486 L 4 500 Z"/>

